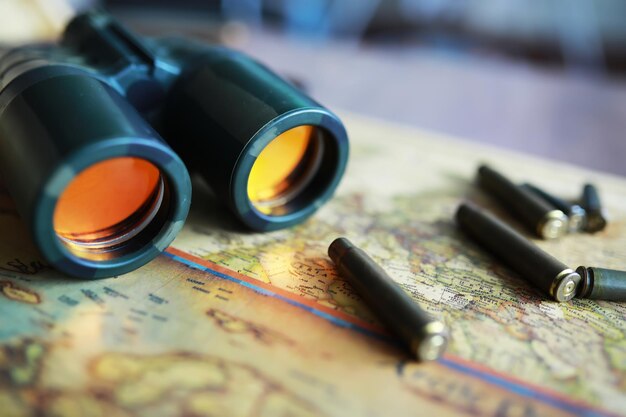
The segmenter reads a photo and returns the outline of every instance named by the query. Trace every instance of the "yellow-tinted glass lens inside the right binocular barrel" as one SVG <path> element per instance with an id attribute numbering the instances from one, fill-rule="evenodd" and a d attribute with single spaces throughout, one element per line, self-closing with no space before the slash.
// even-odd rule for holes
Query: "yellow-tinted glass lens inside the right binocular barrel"
<path id="1" fill-rule="evenodd" d="M 272 140 L 248 177 L 248 198 L 261 213 L 274 214 L 296 198 L 315 176 L 323 142 L 310 125 L 294 127 Z"/>

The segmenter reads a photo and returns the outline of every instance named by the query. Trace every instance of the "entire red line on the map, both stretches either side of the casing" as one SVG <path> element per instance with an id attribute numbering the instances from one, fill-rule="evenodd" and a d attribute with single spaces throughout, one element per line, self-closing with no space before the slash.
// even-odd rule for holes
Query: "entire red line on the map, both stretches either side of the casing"
<path id="1" fill-rule="evenodd" d="M 226 268 L 226 267 L 224 267 L 222 265 L 218 265 L 218 264 L 216 264 L 214 262 L 211 262 L 209 260 L 200 258 L 200 257 L 195 256 L 195 255 L 191 255 L 191 254 L 189 254 L 187 252 L 183 252 L 182 250 L 176 249 L 176 248 L 174 248 L 172 246 L 167 248 L 166 251 L 171 253 L 171 254 L 173 254 L 173 255 L 176 255 L 176 256 L 179 256 L 181 258 L 187 259 L 188 261 L 197 263 L 197 264 L 202 265 L 204 267 L 207 267 L 209 269 L 212 269 L 212 270 L 215 270 L 217 272 L 220 272 L 222 274 L 230 275 L 233 278 L 240 279 L 242 281 L 245 281 L 245 282 L 248 282 L 250 284 L 253 284 L 253 285 L 257 286 L 257 287 L 260 287 L 260 288 L 263 288 L 265 290 L 274 292 L 274 293 L 279 294 L 280 296 L 282 296 L 284 298 L 288 298 L 290 300 L 293 300 L 296 303 L 306 305 L 308 307 L 311 307 L 311 308 L 319 310 L 319 311 L 323 311 L 326 314 L 332 315 L 332 316 L 334 316 L 334 317 L 336 317 L 338 319 L 347 321 L 347 322 L 349 322 L 351 324 L 357 325 L 357 326 L 359 326 L 361 328 L 364 328 L 366 330 L 369 330 L 371 332 L 374 332 L 374 333 L 377 333 L 377 334 L 381 334 L 381 335 L 388 335 L 389 334 L 384 329 L 381 329 L 380 327 L 375 326 L 373 324 L 370 324 L 370 323 L 368 323 L 366 321 L 363 321 L 363 320 L 361 320 L 359 318 L 356 318 L 354 316 L 350 316 L 350 315 L 348 315 L 346 313 L 343 313 L 341 311 L 335 310 L 333 308 L 329 308 L 329 307 L 320 305 L 317 301 L 313 301 L 313 300 L 310 300 L 308 298 L 304 298 L 304 297 L 302 297 L 300 295 L 297 295 L 297 294 L 294 294 L 294 293 L 292 293 L 290 291 L 286 291 L 286 290 L 283 290 L 281 288 L 278 288 L 278 287 L 276 287 L 276 286 L 274 286 L 272 284 L 267 284 L 267 283 L 265 283 L 263 281 L 259 281 L 259 280 L 255 279 L 255 278 L 251 278 L 251 277 L 249 277 L 247 275 L 241 274 L 240 272 L 237 272 L 237 271 L 233 271 L 232 269 Z M 571 397 L 568 397 L 565 394 L 562 394 L 562 393 L 560 393 L 558 391 L 553 391 L 553 390 L 550 390 L 550 389 L 547 389 L 547 388 L 544 388 L 544 387 L 541 387 L 541 386 L 538 386 L 538 385 L 534 385 L 534 384 L 529 383 L 527 381 L 524 381 L 522 379 L 518 379 L 518 378 L 512 377 L 512 376 L 510 376 L 508 374 L 501 373 L 501 372 L 496 371 L 496 370 L 494 370 L 492 368 L 489 368 L 489 367 L 487 367 L 487 366 L 485 366 L 483 364 L 480 364 L 480 363 L 477 363 L 477 362 L 468 361 L 467 359 L 464 359 L 464 358 L 461 358 L 459 356 L 452 355 L 452 354 L 449 354 L 449 353 L 444 354 L 444 358 L 449 360 L 449 361 L 451 361 L 451 362 L 455 362 L 455 363 L 457 363 L 459 365 L 465 366 L 467 368 L 474 369 L 475 371 L 477 371 L 479 373 L 492 375 L 492 376 L 497 377 L 499 379 L 506 380 L 506 381 L 509 381 L 511 383 L 527 387 L 527 388 L 529 388 L 532 391 L 536 391 L 536 392 L 542 393 L 542 394 L 544 394 L 546 396 L 550 396 L 550 397 L 552 397 L 554 399 L 558 399 L 559 401 L 563 401 L 563 402 L 569 403 L 569 404 L 574 405 L 574 406 L 583 407 L 583 408 L 588 409 L 590 411 L 597 411 L 597 412 L 602 413 L 604 415 L 620 417 L 617 414 L 614 414 L 612 412 L 609 412 L 609 411 L 603 410 L 601 408 L 597 408 L 597 407 L 591 406 L 588 403 L 585 403 L 584 401 L 572 399 Z"/>

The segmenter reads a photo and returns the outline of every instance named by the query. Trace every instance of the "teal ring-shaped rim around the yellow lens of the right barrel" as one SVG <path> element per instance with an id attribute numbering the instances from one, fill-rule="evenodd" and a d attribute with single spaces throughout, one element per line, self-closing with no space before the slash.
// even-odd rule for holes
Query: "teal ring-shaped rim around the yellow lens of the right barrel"
<path id="1" fill-rule="evenodd" d="M 294 127 L 310 125 L 321 129 L 321 134 L 336 148 L 337 163 L 324 190 L 311 198 L 309 204 L 284 215 L 260 212 L 248 196 L 248 177 L 261 151 L 276 137 Z M 272 231 L 304 221 L 329 200 L 343 176 L 348 161 L 348 135 L 339 118 L 324 108 L 300 108 L 284 113 L 265 124 L 245 145 L 233 168 L 230 180 L 230 200 L 233 211 L 248 227 Z"/>

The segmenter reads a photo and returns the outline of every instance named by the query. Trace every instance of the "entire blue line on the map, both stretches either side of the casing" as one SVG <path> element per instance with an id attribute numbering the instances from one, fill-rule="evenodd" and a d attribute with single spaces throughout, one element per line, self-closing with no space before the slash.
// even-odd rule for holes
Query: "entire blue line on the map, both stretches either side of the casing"
<path id="1" fill-rule="evenodd" d="M 241 280 L 241 279 L 238 279 L 238 278 L 231 277 L 230 275 L 224 274 L 222 272 L 215 271 L 214 269 L 211 269 L 209 267 L 197 264 L 197 263 L 195 263 L 193 261 L 190 261 L 188 259 L 182 258 L 182 257 L 180 257 L 178 255 L 174 255 L 174 254 L 169 253 L 169 252 L 164 252 L 164 254 L 166 256 L 172 258 L 173 260 L 175 260 L 177 262 L 180 262 L 180 263 L 182 263 L 184 265 L 187 265 L 187 266 L 189 266 L 189 267 L 191 267 L 193 269 L 198 269 L 200 271 L 208 272 L 211 275 L 214 275 L 214 276 L 216 276 L 218 278 L 235 282 L 237 284 L 243 285 L 244 287 L 250 288 L 253 291 L 256 291 L 256 292 L 258 292 L 260 294 L 268 295 L 268 296 L 271 296 L 271 297 L 276 297 L 276 298 L 278 298 L 280 300 L 286 301 L 287 303 L 289 303 L 289 304 L 291 304 L 293 306 L 302 308 L 302 309 L 304 309 L 304 310 L 306 310 L 306 311 L 308 311 L 310 313 L 315 314 L 316 316 L 319 316 L 319 317 L 321 317 L 323 319 L 326 319 L 326 320 L 328 320 L 328 321 L 330 321 L 330 322 L 332 322 L 332 323 L 334 323 L 334 324 L 336 324 L 338 326 L 345 327 L 345 328 L 352 329 L 352 330 L 356 330 L 356 331 L 364 333 L 364 334 L 366 334 L 368 336 L 375 337 L 375 338 L 377 338 L 379 340 L 383 340 L 385 342 L 388 342 L 388 343 L 391 343 L 391 344 L 397 346 L 397 342 L 395 340 L 389 338 L 389 337 L 386 337 L 384 335 L 380 335 L 380 334 L 374 333 L 374 332 L 372 332 L 370 330 L 367 330 L 367 329 L 364 329 L 364 328 L 360 327 L 357 324 L 350 323 L 349 321 L 342 320 L 342 319 L 337 318 L 337 317 L 335 317 L 335 316 L 333 316 L 331 314 L 325 313 L 323 311 L 319 311 L 319 310 L 315 309 L 314 307 L 310 307 L 310 306 L 307 306 L 305 304 L 299 303 L 299 302 L 297 302 L 295 300 L 292 300 L 290 298 L 284 297 L 284 296 L 282 296 L 280 294 L 277 294 L 277 293 L 275 293 L 273 291 L 270 291 L 270 290 L 267 290 L 265 288 L 262 288 L 262 287 L 259 287 L 257 285 L 254 285 L 254 284 L 252 284 L 250 282 L 247 282 L 247 281 L 244 281 L 244 280 Z M 481 379 L 481 380 L 483 380 L 485 382 L 488 382 L 490 384 L 493 384 L 493 385 L 496 385 L 498 387 L 507 389 L 507 390 L 509 390 L 509 391 L 511 391 L 511 392 L 513 392 L 515 394 L 518 394 L 518 395 L 521 395 L 521 396 L 524 396 L 524 397 L 531 397 L 533 399 L 542 401 L 542 402 L 544 402 L 544 403 L 546 403 L 548 405 L 551 405 L 553 407 L 559 408 L 559 409 L 561 409 L 563 411 L 567 411 L 569 413 L 574 413 L 574 414 L 582 416 L 582 417 L 612 417 L 611 414 L 607 414 L 607 413 L 599 411 L 599 410 L 593 410 L 593 409 L 587 408 L 585 406 L 572 404 L 572 403 L 570 403 L 568 401 L 561 400 L 558 397 L 553 397 L 550 394 L 545 394 L 543 392 L 536 391 L 535 389 L 533 389 L 531 387 L 528 387 L 528 386 L 525 386 L 524 384 L 517 383 L 517 382 L 511 381 L 511 380 L 508 380 L 506 378 L 503 378 L 501 376 L 488 373 L 488 372 L 480 371 L 478 369 L 472 368 L 472 367 L 464 365 L 462 363 L 455 362 L 454 360 L 441 358 L 441 359 L 438 360 L 438 362 L 440 364 L 448 367 L 448 368 L 454 369 L 455 371 L 459 371 L 459 372 L 462 372 L 464 374 L 474 376 L 474 377 L 479 378 L 479 379 Z"/>

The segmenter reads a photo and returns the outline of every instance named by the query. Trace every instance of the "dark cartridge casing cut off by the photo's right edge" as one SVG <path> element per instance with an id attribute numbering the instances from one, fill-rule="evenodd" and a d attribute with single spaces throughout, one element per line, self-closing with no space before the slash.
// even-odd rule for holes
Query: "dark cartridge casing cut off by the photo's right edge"
<path id="1" fill-rule="evenodd" d="M 576 272 L 582 278 L 576 297 L 626 301 L 626 271 L 579 266 Z"/>

